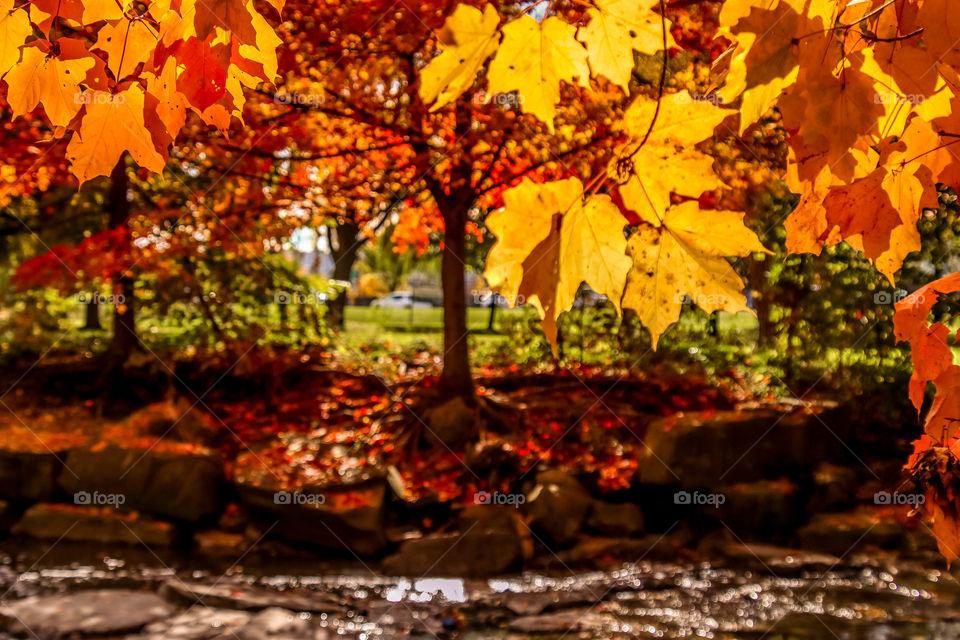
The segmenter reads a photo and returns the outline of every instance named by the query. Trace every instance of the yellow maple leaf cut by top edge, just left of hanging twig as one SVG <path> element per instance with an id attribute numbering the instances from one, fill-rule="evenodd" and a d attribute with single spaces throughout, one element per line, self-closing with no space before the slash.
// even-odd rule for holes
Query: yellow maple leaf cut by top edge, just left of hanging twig
<path id="1" fill-rule="evenodd" d="M 629 92 L 633 52 L 652 54 L 664 49 L 663 22 L 650 0 L 597 0 L 587 11 L 590 22 L 577 38 L 587 45 L 590 68 Z M 666 48 L 676 46 L 666 24 Z"/>

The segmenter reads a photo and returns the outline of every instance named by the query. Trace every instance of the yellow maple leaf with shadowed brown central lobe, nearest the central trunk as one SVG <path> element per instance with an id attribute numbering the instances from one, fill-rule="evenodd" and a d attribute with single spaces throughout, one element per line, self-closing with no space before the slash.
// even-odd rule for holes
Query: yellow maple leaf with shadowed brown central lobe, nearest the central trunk
<path id="1" fill-rule="evenodd" d="M 503 208 L 487 218 L 497 243 L 487 256 L 484 277 L 508 300 L 537 309 L 554 349 L 557 318 L 573 306 L 583 282 L 619 310 L 630 259 L 626 220 L 609 196 L 584 200 L 576 178 L 546 184 L 525 179 L 505 191 L 503 201 Z"/>

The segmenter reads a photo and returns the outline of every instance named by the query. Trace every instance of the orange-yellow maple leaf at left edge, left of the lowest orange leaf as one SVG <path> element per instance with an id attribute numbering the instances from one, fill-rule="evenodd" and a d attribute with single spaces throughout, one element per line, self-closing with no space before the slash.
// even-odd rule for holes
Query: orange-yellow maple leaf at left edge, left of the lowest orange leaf
<path id="1" fill-rule="evenodd" d="M 80 83 L 94 64 L 93 58 L 60 60 L 37 47 L 24 47 L 23 58 L 4 76 L 13 116 L 22 116 L 42 104 L 52 125 L 67 126 L 83 106 Z"/>

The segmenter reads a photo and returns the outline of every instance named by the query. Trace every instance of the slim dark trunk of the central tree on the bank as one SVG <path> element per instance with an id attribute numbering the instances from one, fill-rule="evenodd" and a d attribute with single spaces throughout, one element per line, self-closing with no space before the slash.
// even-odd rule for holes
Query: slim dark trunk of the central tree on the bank
<path id="1" fill-rule="evenodd" d="M 472 198 L 436 198 L 443 214 L 443 372 L 440 391 L 445 397 L 473 397 L 470 352 L 467 344 L 467 209 Z"/>

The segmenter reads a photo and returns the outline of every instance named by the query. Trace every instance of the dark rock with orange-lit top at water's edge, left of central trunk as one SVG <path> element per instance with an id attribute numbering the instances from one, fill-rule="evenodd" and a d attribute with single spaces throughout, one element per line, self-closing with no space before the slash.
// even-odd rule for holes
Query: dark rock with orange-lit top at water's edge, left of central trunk
<path id="1" fill-rule="evenodd" d="M 271 535 L 360 555 L 379 553 L 387 544 L 383 478 L 296 492 L 239 481 L 237 490 Z"/>

